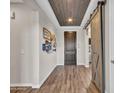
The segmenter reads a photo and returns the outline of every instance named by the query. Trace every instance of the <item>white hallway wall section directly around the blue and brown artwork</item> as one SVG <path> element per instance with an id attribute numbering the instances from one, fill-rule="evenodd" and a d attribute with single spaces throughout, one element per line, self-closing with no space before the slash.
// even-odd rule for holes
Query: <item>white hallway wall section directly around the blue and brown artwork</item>
<path id="1" fill-rule="evenodd" d="M 47 28 L 52 33 L 55 33 L 56 35 L 56 27 L 51 22 L 51 20 L 45 15 L 45 13 L 39 12 L 39 28 L 40 28 L 40 37 L 39 37 L 39 51 L 40 51 L 40 71 L 39 71 L 39 82 L 40 85 L 47 79 L 47 77 L 50 75 L 50 73 L 54 70 L 57 64 L 57 52 L 53 52 L 50 54 L 47 54 L 46 52 L 42 51 L 42 44 L 44 43 L 43 39 L 43 27 Z"/>

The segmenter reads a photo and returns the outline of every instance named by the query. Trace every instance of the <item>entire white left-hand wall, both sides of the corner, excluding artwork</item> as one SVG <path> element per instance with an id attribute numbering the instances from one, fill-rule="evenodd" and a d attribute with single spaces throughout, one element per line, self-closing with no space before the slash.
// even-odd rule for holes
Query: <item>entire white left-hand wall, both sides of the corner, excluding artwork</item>
<path id="1" fill-rule="evenodd" d="M 56 34 L 56 28 L 32 0 L 11 3 L 11 11 L 16 15 L 11 19 L 11 86 L 39 88 L 57 64 L 56 52 L 42 51 L 42 30 L 46 27 Z"/>

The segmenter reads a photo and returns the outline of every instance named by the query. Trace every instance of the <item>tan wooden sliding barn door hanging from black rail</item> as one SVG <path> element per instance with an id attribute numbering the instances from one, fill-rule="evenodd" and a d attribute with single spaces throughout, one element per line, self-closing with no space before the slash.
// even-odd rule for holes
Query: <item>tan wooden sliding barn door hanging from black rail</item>
<path id="1" fill-rule="evenodd" d="M 91 17 L 92 81 L 100 90 L 100 93 L 103 91 L 103 41 L 101 12 L 101 6 L 98 6 Z"/>

